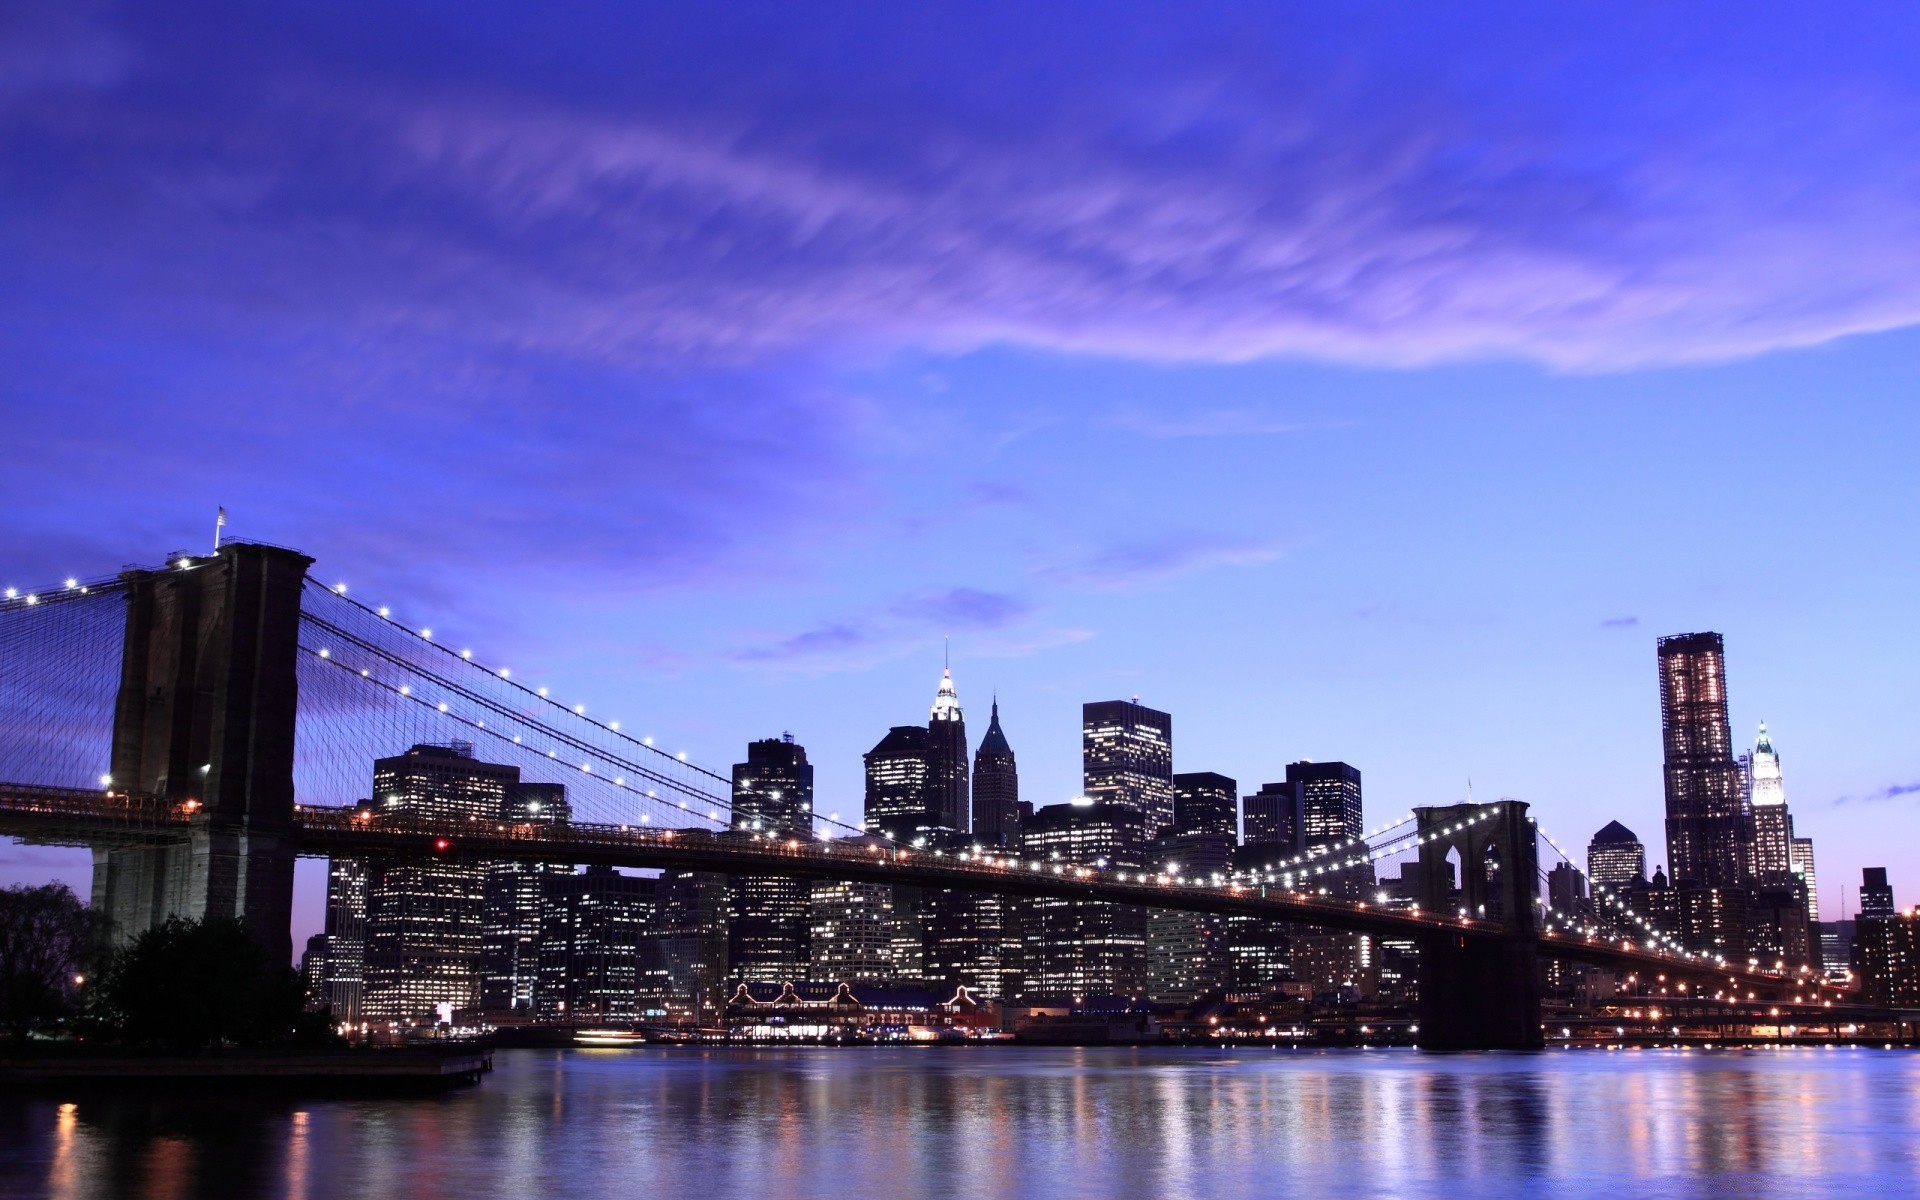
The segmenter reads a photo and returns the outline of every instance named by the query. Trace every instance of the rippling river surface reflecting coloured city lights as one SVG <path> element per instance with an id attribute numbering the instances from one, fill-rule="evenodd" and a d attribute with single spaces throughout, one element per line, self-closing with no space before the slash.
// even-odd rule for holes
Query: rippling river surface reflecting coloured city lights
<path id="1" fill-rule="evenodd" d="M 513 1050 L 413 1100 L 0 1098 L 23 1196 L 1920 1196 L 1920 1056 Z"/>

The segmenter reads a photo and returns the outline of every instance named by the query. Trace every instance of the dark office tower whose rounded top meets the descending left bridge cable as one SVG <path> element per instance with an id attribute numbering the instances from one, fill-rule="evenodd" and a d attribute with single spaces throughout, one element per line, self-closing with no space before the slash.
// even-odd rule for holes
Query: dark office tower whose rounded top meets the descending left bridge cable
<path id="1" fill-rule="evenodd" d="M 733 764 L 733 835 L 810 839 L 814 768 L 791 733 L 747 745 Z M 806 979 L 810 918 L 806 879 L 728 877 L 728 979 Z"/>

